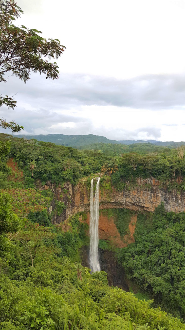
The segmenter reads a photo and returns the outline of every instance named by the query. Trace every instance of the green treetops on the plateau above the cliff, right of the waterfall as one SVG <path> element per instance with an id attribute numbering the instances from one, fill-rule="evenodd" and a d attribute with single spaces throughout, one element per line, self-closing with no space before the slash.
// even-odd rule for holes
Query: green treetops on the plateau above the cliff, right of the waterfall
<path id="1" fill-rule="evenodd" d="M 167 185 L 180 177 L 179 190 L 184 190 L 185 157 L 179 155 L 178 148 L 166 148 L 161 153 L 123 153 L 118 160 L 119 170 L 112 174 L 112 183 L 119 191 L 124 189 L 126 181 L 132 183 L 136 178 L 150 177 Z"/>

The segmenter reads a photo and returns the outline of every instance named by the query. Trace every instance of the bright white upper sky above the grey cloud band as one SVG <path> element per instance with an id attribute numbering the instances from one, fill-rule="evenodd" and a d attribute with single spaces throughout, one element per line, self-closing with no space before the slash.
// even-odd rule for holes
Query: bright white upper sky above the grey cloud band
<path id="1" fill-rule="evenodd" d="M 185 70 L 183 2 L 40 0 L 33 13 L 32 2 L 17 1 L 25 11 L 21 24 L 67 47 L 62 72 L 117 78 Z"/>

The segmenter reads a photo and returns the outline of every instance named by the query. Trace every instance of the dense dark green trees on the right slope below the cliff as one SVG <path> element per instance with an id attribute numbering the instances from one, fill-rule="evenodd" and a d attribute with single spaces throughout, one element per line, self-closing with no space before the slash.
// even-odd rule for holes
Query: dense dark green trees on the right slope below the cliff
<path id="1" fill-rule="evenodd" d="M 128 279 L 173 314 L 185 317 L 185 213 L 139 215 L 135 243 L 119 251 Z"/>

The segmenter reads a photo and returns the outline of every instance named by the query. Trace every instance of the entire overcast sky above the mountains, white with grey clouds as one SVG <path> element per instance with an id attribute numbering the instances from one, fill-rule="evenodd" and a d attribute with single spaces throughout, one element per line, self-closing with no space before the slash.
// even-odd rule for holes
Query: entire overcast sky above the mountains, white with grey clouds
<path id="1" fill-rule="evenodd" d="M 17 0 L 16 22 L 58 38 L 60 78 L 9 75 L 0 109 L 27 134 L 185 141 L 185 0 Z M 8 131 L 3 131 L 7 132 Z"/>

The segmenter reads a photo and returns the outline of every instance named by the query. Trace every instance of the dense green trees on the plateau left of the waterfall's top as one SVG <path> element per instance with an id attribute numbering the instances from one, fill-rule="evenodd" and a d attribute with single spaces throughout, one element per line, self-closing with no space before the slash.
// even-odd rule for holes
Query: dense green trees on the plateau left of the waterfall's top
<path id="1" fill-rule="evenodd" d="M 105 154 L 97 151 L 78 151 L 52 143 L 13 138 L 7 134 L 0 134 L 0 138 L 4 148 L 7 146 L 0 162 L 0 171 L 7 178 L 10 169 L 6 160 L 14 157 L 23 171 L 25 188 L 35 188 L 38 179 L 42 185 L 48 181 L 61 185 L 69 181 L 75 185 L 80 178 L 100 172 L 107 160 Z"/>

